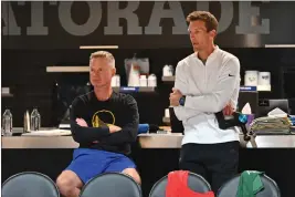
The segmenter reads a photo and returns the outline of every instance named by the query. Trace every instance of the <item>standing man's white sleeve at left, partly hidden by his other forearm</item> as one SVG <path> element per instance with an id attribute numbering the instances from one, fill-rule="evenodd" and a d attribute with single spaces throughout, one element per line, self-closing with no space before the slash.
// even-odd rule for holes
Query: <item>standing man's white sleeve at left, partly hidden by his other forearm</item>
<path id="1" fill-rule="evenodd" d="M 176 68 L 176 81 L 175 89 L 179 90 L 183 95 L 188 92 L 188 81 L 186 76 L 186 72 L 183 71 L 183 63 L 179 62 Z M 200 114 L 197 110 L 186 108 L 185 106 L 178 105 L 173 106 L 175 114 L 179 121 L 185 121 L 192 116 Z"/>

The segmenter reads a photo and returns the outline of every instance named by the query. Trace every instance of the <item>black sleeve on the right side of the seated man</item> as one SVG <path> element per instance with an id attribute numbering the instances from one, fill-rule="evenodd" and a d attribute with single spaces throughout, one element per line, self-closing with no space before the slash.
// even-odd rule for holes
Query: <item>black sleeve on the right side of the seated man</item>
<path id="1" fill-rule="evenodd" d="M 126 106 L 123 106 L 126 110 L 124 111 L 125 124 L 122 126 L 119 132 L 110 133 L 107 136 L 102 138 L 102 143 L 107 145 L 119 145 L 136 142 L 138 134 L 139 125 L 139 114 L 137 102 L 130 95 L 126 96 Z M 118 126 L 118 125 L 116 125 Z"/>

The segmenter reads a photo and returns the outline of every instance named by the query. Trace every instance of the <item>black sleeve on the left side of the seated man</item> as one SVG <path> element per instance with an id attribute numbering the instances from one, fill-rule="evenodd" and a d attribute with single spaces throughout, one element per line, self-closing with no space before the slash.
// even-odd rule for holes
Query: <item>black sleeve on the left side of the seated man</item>
<path id="1" fill-rule="evenodd" d="M 109 134 L 107 126 L 102 127 L 84 127 L 76 123 L 76 118 L 83 118 L 86 121 L 87 112 L 86 104 L 81 98 L 74 100 L 71 106 L 70 118 L 71 118 L 71 132 L 75 142 L 77 143 L 92 143 L 99 141 L 102 137 Z"/>

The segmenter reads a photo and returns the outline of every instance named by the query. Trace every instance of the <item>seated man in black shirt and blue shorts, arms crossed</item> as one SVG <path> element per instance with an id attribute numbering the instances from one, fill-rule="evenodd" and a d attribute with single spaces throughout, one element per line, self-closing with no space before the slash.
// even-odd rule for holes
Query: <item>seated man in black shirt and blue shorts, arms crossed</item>
<path id="1" fill-rule="evenodd" d="M 89 69 L 94 91 L 76 97 L 71 108 L 71 131 L 80 147 L 56 180 L 65 197 L 77 197 L 84 184 L 106 172 L 125 173 L 140 184 L 134 162 L 126 156 L 137 137 L 137 103 L 130 95 L 113 92 L 116 69 L 109 52 L 93 53 Z"/>

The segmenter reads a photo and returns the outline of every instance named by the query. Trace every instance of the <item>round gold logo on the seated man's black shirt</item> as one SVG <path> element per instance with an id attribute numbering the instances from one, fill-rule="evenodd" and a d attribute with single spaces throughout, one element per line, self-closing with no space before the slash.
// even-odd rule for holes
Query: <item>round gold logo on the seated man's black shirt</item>
<path id="1" fill-rule="evenodd" d="M 114 124 L 115 124 L 115 115 L 110 111 L 107 110 L 97 111 L 92 116 L 93 127 L 108 126 Z"/>

